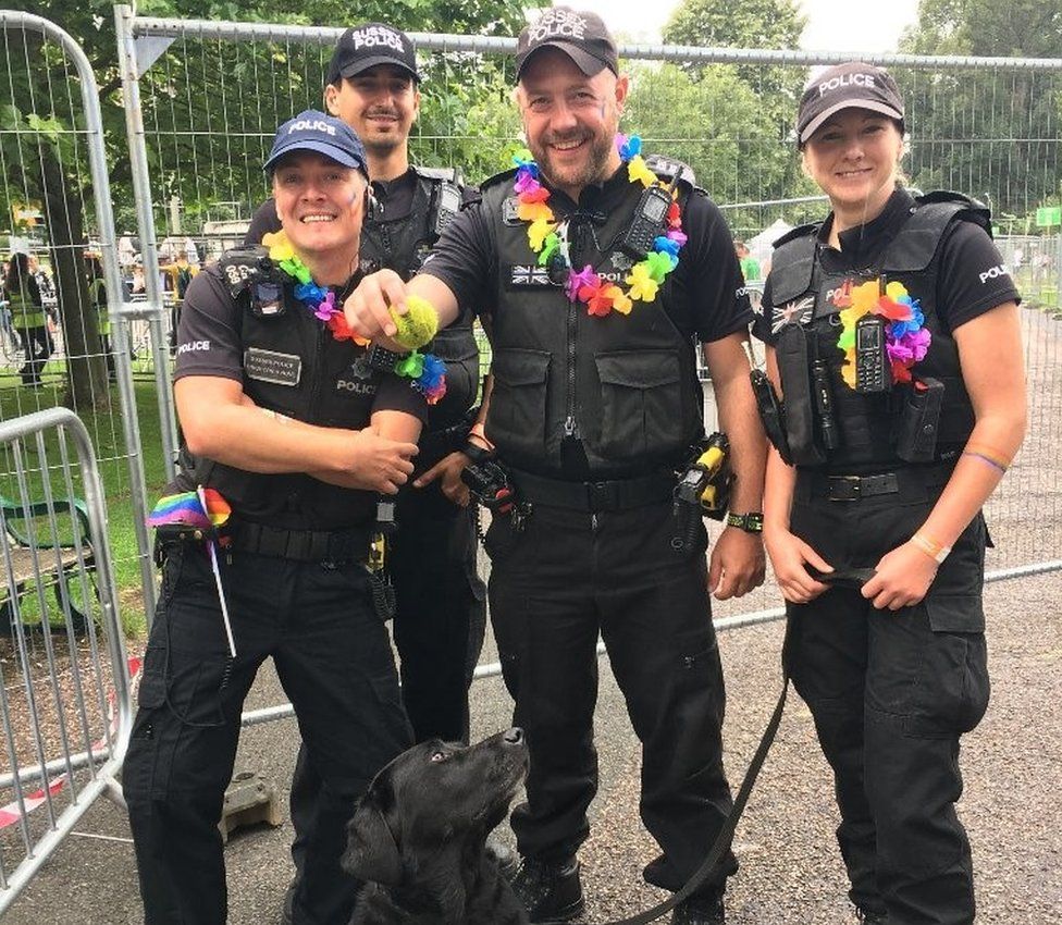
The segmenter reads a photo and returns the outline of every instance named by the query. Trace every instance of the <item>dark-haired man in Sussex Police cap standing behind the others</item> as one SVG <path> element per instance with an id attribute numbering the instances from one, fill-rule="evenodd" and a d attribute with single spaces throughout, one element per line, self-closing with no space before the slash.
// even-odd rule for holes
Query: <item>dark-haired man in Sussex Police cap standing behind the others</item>
<path id="1" fill-rule="evenodd" d="M 372 177 L 374 205 L 361 227 L 362 272 L 387 267 L 411 278 L 467 196 L 458 171 L 409 163 L 419 83 L 412 41 L 383 23 L 347 29 L 329 66 L 325 106 L 365 143 Z M 255 213 L 248 243 L 275 231 L 276 222 L 275 206 L 267 201 Z M 388 539 L 386 568 L 395 584 L 403 702 L 417 741 L 467 741 L 468 689 L 486 624 L 485 588 L 476 572 L 476 513 L 459 478 L 468 461 L 459 451 L 479 385 L 471 311 L 462 310 L 441 331 L 431 350 L 446 361 L 446 395 L 429 410 L 417 488 L 398 495 L 398 531 Z M 292 781 L 297 868 L 320 786 L 300 749 Z"/>

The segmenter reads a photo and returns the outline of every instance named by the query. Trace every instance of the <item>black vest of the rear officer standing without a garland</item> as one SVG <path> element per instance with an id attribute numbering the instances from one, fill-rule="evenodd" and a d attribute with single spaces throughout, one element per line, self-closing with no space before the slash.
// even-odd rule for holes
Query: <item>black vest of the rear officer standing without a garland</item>
<path id="1" fill-rule="evenodd" d="M 417 174 L 409 212 L 388 219 L 367 218 L 361 229 L 360 269 L 372 273 L 386 267 L 411 280 L 446 223 L 457 214 L 464 183 L 455 170 L 412 168 Z M 458 421 L 476 400 L 480 355 L 472 336 L 472 312 L 461 313 L 424 350 L 446 362 L 446 394 L 428 411 L 427 430 L 437 431 Z"/>

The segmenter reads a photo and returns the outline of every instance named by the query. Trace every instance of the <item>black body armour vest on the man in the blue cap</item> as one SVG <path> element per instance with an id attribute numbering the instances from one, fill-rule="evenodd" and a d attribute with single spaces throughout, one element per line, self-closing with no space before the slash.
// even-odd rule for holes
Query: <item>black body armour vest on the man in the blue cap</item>
<path id="1" fill-rule="evenodd" d="M 245 266 L 248 252 L 239 254 Z M 250 252 L 264 257 L 267 251 L 254 248 Z M 225 279 L 230 259 L 225 255 L 203 272 Z M 263 313 L 254 305 L 254 276 L 245 282 L 234 296 L 240 306 L 244 393 L 260 408 L 307 423 L 368 427 L 383 373 L 361 361 L 365 347 L 336 341 L 295 298 L 294 284 L 283 283 L 281 311 Z M 271 527 L 339 530 L 368 526 L 374 517 L 374 493 L 329 485 L 301 472 L 248 472 L 193 456 L 187 448 L 182 448 L 181 469 L 184 489 L 214 488 L 242 519 Z"/>

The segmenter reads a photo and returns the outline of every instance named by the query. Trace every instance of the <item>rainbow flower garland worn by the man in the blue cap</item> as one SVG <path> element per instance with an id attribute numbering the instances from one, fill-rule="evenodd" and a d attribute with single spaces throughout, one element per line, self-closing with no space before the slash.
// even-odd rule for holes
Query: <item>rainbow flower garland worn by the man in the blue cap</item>
<path id="1" fill-rule="evenodd" d="M 325 328 L 332 332 L 332 336 L 336 341 L 354 341 L 355 344 L 362 347 L 369 344 L 366 337 L 354 332 L 347 324 L 343 309 L 335 304 L 335 293 L 313 282 L 309 268 L 295 254 L 295 248 L 283 231 L 263 235 L 262 244 L 269 248 L 269 259 L 295 280 L 295 298 L 302 303 L 316 318 L 324 322 Z M 404 331 L 412 333 L 415 329 L 422 330 L 425 328 L 421 318 L 423 309 L 434 311 L 423 299 L 419 301 L 423 305 L 418 307 L 417 312 L 413 311 L 413 303 L 410 299 L 410 314 L 395 317 L 395 323 L 399 329 L 397 335 L 399 340 L 402 340 Z M 437 319 L 435 324 L 431 325 L 431 334 L 428 335 L 427 340 L 422 340 L 419 346 L 423 346 L 434 336 L 436 325 Z M 434 354 L 421 354 L 411 347 L 410 353 L 399 357 L 395 362 L 394 371 L 396 375 L 411 379 L 413 388 L 424 396 L 429 405 L 434 405 L 446 394 L 446 363 Z"/>

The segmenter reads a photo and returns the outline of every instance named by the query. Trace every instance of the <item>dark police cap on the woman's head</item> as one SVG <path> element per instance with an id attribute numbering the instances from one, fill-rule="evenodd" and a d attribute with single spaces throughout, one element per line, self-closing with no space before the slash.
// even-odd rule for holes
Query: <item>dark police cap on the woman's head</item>
<path id="1" fill-rule="evenodd" d="M 796 143 L 803 145 L 833 113 L 842 109 L 869 109 L 900 122 L 903 131 L 903 98 L 888 71 L 848 61 L 815 77 L 804 89 L 796 112 Z"/>

